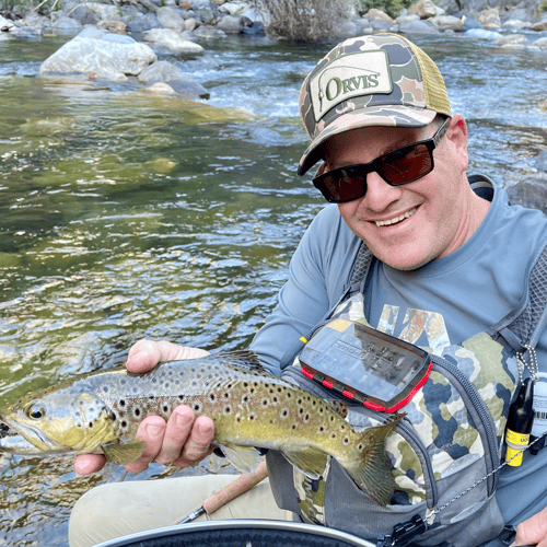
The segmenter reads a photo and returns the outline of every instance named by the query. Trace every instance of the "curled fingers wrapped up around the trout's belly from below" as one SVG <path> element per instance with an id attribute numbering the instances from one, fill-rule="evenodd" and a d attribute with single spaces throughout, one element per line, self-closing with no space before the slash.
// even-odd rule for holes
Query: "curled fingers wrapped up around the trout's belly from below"
<path id="1" fill-rule="evenodd" d="M 143 420 L 137 437 L 147 443 L 143 454 L 126 465 L 130 473 L 141 473 L 155 459 L 163 465 L 190 467 L 212 452 L 214 423 L 210 418 L 196 418 L 190 407 L 179 405 L 167 423 L 159 416 Z"/>

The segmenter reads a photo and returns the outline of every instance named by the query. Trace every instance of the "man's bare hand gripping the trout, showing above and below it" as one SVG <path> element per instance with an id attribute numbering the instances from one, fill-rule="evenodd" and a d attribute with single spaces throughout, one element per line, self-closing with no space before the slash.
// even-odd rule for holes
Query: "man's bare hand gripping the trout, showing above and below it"
<path id="1" fill-rule="evenodd" d="M 195 359 L 209 354 L 199 348 L 176 346 L 167 341 L 140 340 L 129 350 L 127 370 L 143 373 L 161 361 Z M 179 405 L 167 422 L 159 416 L 151 416 L 139 424 L 137 437 L 147 442 L 144 453 L 133 463 L 126 465 L 130 473 L 140 473 L 155 459 L 164 465 L 189 467 L 212 452 L 211 442 L 214 424 L 210 418 L 196 418 L 191 408 Z M 74 462 L 79 475 L 98 472 L 106 463 L 101 454 L 81 454 Z"/>

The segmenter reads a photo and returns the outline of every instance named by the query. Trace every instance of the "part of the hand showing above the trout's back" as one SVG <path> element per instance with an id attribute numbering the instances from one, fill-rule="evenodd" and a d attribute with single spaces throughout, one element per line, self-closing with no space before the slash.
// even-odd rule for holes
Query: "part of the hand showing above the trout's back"
<path id="1" fill-rule="evenodd" d="M 140 374 L 152 370 L 162 361 L 196 359 L 208 354 L 203 349 L 177 346 L 166 340 L 140 340 L 129 350 L 126 366 L 129 372 Z"/>

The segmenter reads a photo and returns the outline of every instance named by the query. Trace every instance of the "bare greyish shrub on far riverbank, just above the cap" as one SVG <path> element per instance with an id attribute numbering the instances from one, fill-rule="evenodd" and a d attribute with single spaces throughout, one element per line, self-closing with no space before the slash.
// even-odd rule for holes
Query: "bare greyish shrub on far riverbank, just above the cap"
<path id="1" fill-rule="evenodd" d="M 346 0 L 255 0 L 269 34 L 301 42 L 336 35 L 346 13 Z"/>

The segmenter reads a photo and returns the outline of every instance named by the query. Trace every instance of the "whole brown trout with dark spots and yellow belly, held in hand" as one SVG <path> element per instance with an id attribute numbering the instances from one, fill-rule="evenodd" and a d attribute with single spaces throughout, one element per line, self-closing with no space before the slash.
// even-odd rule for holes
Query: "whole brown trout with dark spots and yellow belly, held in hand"
<path id="1" fill-rule="evenodd" d="M 214 444 L 244 473 L 259 462 L 256 449 L 281 451 L 313 479 L 331 456 L 377 504 L 393 494 L 385 438 L 401 416 L 357 432 L 333 404 L 269 374 L 249 351 L 168 361 L 144 374 L 94 372 L 30 394 L 0 412 L 0 450 L 102 453 L 128 464 L 144 449 L 139 422 L 167 419 L 181 404 L 213 420 Z"/>

